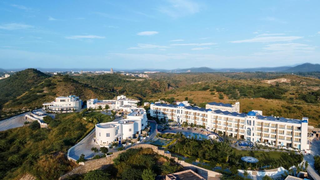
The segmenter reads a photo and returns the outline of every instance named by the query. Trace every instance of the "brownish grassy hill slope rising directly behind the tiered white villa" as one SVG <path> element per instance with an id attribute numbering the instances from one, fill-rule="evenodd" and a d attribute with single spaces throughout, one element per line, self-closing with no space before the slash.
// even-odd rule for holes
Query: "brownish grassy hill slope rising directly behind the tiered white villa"
<path id="1" fill-rule="evenodd" d="M 51 102 L 55 99 L 55 97 L 58 96 L 77 95 L 83 101 L 92 98 L 106 99 L 114 97 L 114 94 L 112 93 L 85 86 L 84 84 L 81 84 L 73 79 L 66 80 L 62 76 L 54 76 L 48 79 L 50 79 L 51 82 L 56 85 L 53 87 L 43 87 L 43 83 L 40 83 L 38 86 L 33 88 L 34 91 L 29 90 L 28 92 L 19 96 L 17 99 L 4 104 L 4 110 L 41 107 L 42 103 Z M 35 90 L 44 91 L 42 93 L 35 93 Z M 37 95 L 34 100 L 24 103 L 25 98 L 28 99 L 29 96 L 33 95 Z M 21 103 L 17 103 L 19 100 Z"/>

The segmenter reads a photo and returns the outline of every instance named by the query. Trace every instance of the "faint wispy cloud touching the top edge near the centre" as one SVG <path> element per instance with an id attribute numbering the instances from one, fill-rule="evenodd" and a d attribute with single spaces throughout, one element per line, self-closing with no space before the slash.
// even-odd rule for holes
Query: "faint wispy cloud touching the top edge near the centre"
<path id="1" fill-rule="evenodd" d="M 172 18 L 178 18 L 200 11 L 200 5 L 190 0 L 168 0 L 168 5 L 161 6 L 158 11 Z"/>

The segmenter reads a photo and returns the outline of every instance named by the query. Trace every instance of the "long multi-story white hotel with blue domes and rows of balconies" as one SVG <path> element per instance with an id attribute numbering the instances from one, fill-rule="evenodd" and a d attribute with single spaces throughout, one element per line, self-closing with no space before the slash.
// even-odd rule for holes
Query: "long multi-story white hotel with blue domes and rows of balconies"
<path id="1" fill-rule="evenodd" d="M 222 110 L 185 106 L 183 103 L 179 105 L 151 103 L 150 115 L 180 123 L 203 125 L 208 130 L 221 131 L 237 139 L 289 146 L 301 151 L 309 150 L 308 118 L 303 117 L 299 120 L 263 116 L 260 110 L 252 110 L 248 114 L 232 112 L 225 110 L 226 107 L 231 108 L 230 104 L 223 103 L 219 103 L 216 107 L 221 107 Z"/>

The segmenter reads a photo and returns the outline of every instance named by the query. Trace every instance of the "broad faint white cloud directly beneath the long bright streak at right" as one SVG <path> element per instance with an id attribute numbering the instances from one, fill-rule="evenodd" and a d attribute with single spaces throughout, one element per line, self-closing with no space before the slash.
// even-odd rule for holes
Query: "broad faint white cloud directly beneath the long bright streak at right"
<path id="1" fill-rule="evenodd" d="M 272 44 L 262 48 L 271 51 L 295 51 L 295 50 L 314 50 L 315 47 L 299 43 Z"/>

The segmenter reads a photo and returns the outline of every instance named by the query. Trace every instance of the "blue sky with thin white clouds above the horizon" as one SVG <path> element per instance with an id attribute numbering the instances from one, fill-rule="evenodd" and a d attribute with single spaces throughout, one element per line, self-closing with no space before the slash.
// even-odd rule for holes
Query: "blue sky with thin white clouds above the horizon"
<path id="1" fill-rule="evenodd" d="M 0 1 L 0 68 L 319 63 L 320 1 Z"/>

